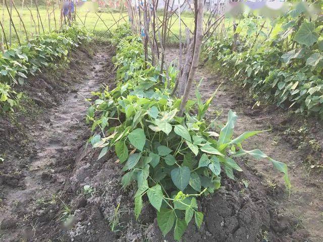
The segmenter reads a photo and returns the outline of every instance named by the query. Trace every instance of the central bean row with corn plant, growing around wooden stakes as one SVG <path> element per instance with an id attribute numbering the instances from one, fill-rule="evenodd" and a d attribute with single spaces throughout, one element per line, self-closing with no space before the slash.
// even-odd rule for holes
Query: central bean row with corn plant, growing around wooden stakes
<path id="1" fill-rule="evenodd" d="M 214 95 L 203 102 L 198 89 L 197 100 L 189 100 L 184 115 L 177 116 L 181 99 L 173 98 L 167 88 L 168 82 L 173 85 L 175 80 L 163 75 L 159 81 L 159 67 L 144 63 L 141 39 L 125 37 L 123 31 L 119 34 L 123 38 L 117 41 L 114 57 L 119 82 L 113 90 L 106 87 L 96 93 L 86 119 L 94 132 L 89 141 L 101 149 L 98 159 L 115 149 L 125 172 L 123 187 L 135 186 L 136 219 L 144 201 L 149 201 L 157 210 L 164 236 L 173 228 L 174 238 L 180 240 L 193 217 L 201 226 L 203 213 L 198 210 L 197 198 L 218 190 L 223 176 L 235 179 L 234 170 L 242 169 L 234 157 L 246 154 L 268 159 L 284 173 L 290 188 L 286 164 L 258 149 L 242 148 L 245 139 L 261 131 L 233 138 L 237 115 L 231 110 L 221 132 L 210 131 L 203 117 Z M 176 77 L 174 72 L 169 76 Z"/>

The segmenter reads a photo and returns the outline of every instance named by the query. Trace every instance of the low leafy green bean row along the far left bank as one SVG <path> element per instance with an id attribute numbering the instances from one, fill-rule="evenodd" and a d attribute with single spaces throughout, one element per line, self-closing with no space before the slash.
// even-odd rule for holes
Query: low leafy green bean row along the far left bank
<path id="1" fill-rule="evenodd" d="M 12 87 L 23 85 L 28 76 L 43 68 L 58 68 L 57 61 L 65 62 L 69 51 L 88 40 L 87 33 L 78 27 L 64 27 L 60 32 L 36 36 L 29 43 L 0 53 L 0 112 L 13 111 L 21 93 Z"/>

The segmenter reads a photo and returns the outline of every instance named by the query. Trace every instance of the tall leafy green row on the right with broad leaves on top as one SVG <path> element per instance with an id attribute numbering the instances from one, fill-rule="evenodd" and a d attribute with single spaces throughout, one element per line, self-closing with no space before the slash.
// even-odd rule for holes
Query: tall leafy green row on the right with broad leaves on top
<path id="1" fill-rule="evenodd" d="M 219 69 L 230 70 L 231 77 L 258 96 L 323 117 L 323 17 L 314 17 L 291 9 L 271 23 L 268 37 L 256 27 L 259 18 L 249 16 L 236 30 L 240 43 L 235 50 L 233 36 L 209 39 L 204 50 L 221 65 Z M 262 38 L 254 40 L 257 34 Z"/>

